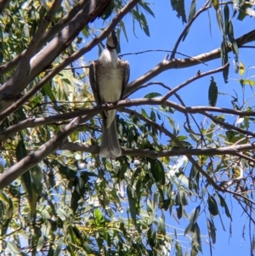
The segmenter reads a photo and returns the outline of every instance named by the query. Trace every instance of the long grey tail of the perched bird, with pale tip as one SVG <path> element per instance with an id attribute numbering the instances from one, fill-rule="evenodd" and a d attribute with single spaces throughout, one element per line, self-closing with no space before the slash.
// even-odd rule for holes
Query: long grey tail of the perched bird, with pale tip
<path id="1" fill-rule="evenodd" d="M 105 124 L 103 124 L 102 144 L 99 155 L 105 158 L 122 156 L 122 149 L 116 131 L 116 118 L 114 118 L 114 121 L 108 129 L 105 127 Z"/>

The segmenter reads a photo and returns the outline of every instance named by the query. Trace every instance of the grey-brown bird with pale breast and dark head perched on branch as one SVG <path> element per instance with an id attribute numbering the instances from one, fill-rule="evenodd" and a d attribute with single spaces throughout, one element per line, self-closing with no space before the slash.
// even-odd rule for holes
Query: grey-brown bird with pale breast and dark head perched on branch
<path id="1" fill-rule="evenodd" d="M 118 40 L 116 32 L 112 31 L 107 37 L 106 48 L 99 56 L 99 60 L 92 61 L 89 66 L 89 81 L 97 105 L 122 100 L 129 80 L 129 64 L 119 59 L 116 47 Z M 99 156 L 116 158 L 122 156 L 116 129 L 116 110 L 104 111 L 102 144 Z"/>

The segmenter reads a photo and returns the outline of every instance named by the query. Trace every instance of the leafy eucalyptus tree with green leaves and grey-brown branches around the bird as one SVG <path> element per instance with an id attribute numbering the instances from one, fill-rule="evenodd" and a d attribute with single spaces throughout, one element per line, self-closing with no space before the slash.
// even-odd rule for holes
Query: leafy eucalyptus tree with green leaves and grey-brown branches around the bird
<path id="1" fill-rule="evenodd" d="M 94 106 L 83 55 L 97 46 L 100 51 L 115 27 L 118 35 L 131 37 L 123 21 L 126 14 L 134 34 L 139 26 L 150 37 L 147 20 L 155 16 L 153 5 L 138 0 L 0 3 L 1 253 L 197 255 L 204 242 L 212 253 L 218 237 L 215 219 L 223 229 L 223 219 L 231 225 L 230 200 L 242 208 L 252 230 L 255 112 L 253 95 L 246 91 L 254 79 L 244 77 L 239 48 L 253 42 L 255 32 L 236 38 L 230 18 L 254 15 L 252 3 L 208 1 L 198 11 L 195 0 L 190 10 L 185 3 L 171 1 L 185 26 L 170 59 L 127 88 L 128 97 L 155 84 L 167 93 L 146 93 L 143 99 L 99 107 Z M 233 14 L 229 6 L 234 6 Z M 179 44 L 191 37 L 192 24 L 208 9 L 218 20 L 220 50 L 177 60 Z M 103 25 L 95 28 L 96 19 Z M 230 51 L 243 95 L 231 96 L 232 108 L 219 108 L 213 75 L 222 72 L 229 82 Z M 220 68 L 198 71 L 175 88 L 151 82 L 168 69 L 217 58 L 222 60 Z M 178 91 L 202 77 L 208 78 L 210 106 L 187 107 Z M 122 111 L 117 125 L 123 150 L 115 160 L 98 156 L 98 114 L 104 108 Z M 185 118 L 182 127 L 176 122 L 180 114 Z M 176 226 L 167 224 L 168 216 Z M 201 231 L 202 221 L 207 235 Z M 250 241 L 252 253 L 254 236 Z M 187 242 L 189 248 L 184 247 Z"/>

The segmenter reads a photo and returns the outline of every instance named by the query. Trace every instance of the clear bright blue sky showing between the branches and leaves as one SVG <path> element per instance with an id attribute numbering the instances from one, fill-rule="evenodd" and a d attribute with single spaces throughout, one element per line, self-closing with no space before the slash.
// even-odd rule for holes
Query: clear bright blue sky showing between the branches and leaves
<path id="1" fill-rule="evenodd" d="M 147 15 L 150 27 L 150 37 L 147 37 L 144 34 L 144 31 L 141 31 L 141 29 L 139 28 L 139 24 L 135 24 L 135 37 L 133 35 L 133 21 L 130 17 L 125 17 L 123 21 L 127 29 L 128 43 L 124 35 L 122 34 L 120 40 L 122 46 L 122 54 L 135 53 L 149 49 L 172 50 L 179 34 L 184 29 L 182 21 L 176 17 L 176 12 L 173 12 L 169 0 L 155 0 L 153 2 L 150 1 L 150 3 L 152 3 L 151 9 L 156 15 L 156 18 Z M 203 1 L 197 1 L 197 9 L 200 9 L 203 3 Z M 188 16 L 190 1 L 186 1 L 185 4 L 186 14 Z M 229 6 L 229 9 L 232 9 L 231 6 Z M 218 48 L 222 41 L 222 35 L 219 31 L 218 23 L 215 17 L 216 14 L 214 9 L 211 9 L 208 12 L 204 12 L 203 14 L 201 14 L 200 17 L 195 20 L 195 23 L 191 27 L 188 37 L 186 37 L 185 41 L 179 45 L 178 52 L 190 56 L 195 56 L 196 54 L 206 53 L 214 48 Z M 239 21 L 234 18 L 232 22 L 235 28 L 235 37 L 240 37 L 242 34 L 254 29 L 254 18 L 246 18 L 243 21 Z M 97 26 L 102 26 L 100 20 L 94 23 L 94 27 Z M 156 64 L 161 62 L 166 54 L 167 53 L 152 52 L 146 54 L 127 55 L 123 57 L 124 60 L 129 61 L 131 67 L 130 82 L 140 77 L 146 71 L 149 71 Z M 176 57 L 183 58 L 180 55 L 176 55 Z M 94 50 L 86 54 L 84 58 L 85 61 L 97 59 L 97 49 L 94 48 Z M 234 80 L 240 77 L 234 72 L 232 60 L 233 54 L 230 53 L 229 62 L 231 66 L 229 68 L 229 83 L 224 83 L 224 79 L 221 73 L 216 74 L 213 77 L 218 84 L 218 91 L 220 93 L 235 95 L 235 90 L 237 94 L 241 95 L 241 86 L 238 82 Z M 246 67 L 254 65 L 254 49 L 240 49 L 240 60 L 244 63 L 244 65 L 246 65 Z M 208 62 L 207 65 L 196 65 L 186 69 L 165 71 L 158 77 L 155 77 L 153 81 L 164 82 L 167 84 L 167 86 L 173 88 L 179 83 L 184 82 L 188 78 L 194 77 L 198 70 L 201 70 L 201 72 L 210 71 L 212 69 L 218 68 L 219 66 L 221 66 L 221 60 L 213 60 Z M 248 76 L 252 76 L 253 74 L 254 70 L 251 70 Z M 196 82 L 193 82 L 188 87 L 184 88 L 179 92 L 186 105 L 208 105 L 207 91 L 210 84 L 210 79 L 211 77 L 204 77 Z M 162 90 L 161 88 L 154 86 L 151 88 L 145 88 L 131 95 L 130 99 L 144 97 L 145 94 L 155 91 L 160 92 L 161 94 L 166 93 L 166 91 Z M 251 94 L 250 88 L 248 88 L 247 94 Z M 231 108 L 230 100 L 232 100 L 230 96 L 220 94 L 218 96 L 217 105 L 220 107 Z M 178 118 L 178 115 L 176 116 L 176 118 Z M 176 119 L 175 121 L 179 123 L 179 125 L 182 125 L 183 119 L 181 117 L 179 118 L 180 119 Z M 220 208 L 226 231 L 223 230 L 218 216 L 214 218 L 215 225 L 217 226 L 217 242 L 215 245 L 213 245 L 214 249 L 212 253 L 213 255 L 250 255 L 249 237 L 247 233 L 248 222 L 246 219 L 246 215 L 242 215 L 241 208 L 236 204 L 236 201 L 234 199 L 231 202 L 228 201 L 228 204 L 233 219 L 232 237 L 229 239 L 229 219 L 227 219 L 227 217 L 225 216 L 223 209 Z M 188 207 L 186 209 L 187 213 L 190 213 L 190 211 L 195 208 L 195 206 L 197 205 L 195 205 L 194 203 L 192 207 Z M 165 213 L 165 216 L 168 225 L 174 225 L 183 229 L 187 225 L 187 222 L 181 220 L 180 225 L 178 226 L 178 223 L 173 218 L 170 219 L 169 213 Z M 201 226 L 202 235 L 206 235 L 206 222 L 202 214 L 198 223 Z M 242 238 L 242 230 L 244 225 L 246 225 L 246 241 L 244 241 Z M 202 241 L 204 241 L 204 239 L 202 239 Z M 172 254 L 173 252 L 171 253 L 171 255 Z M 209 245 L 204 242 L 203 255 L 210 255 Z"/>

